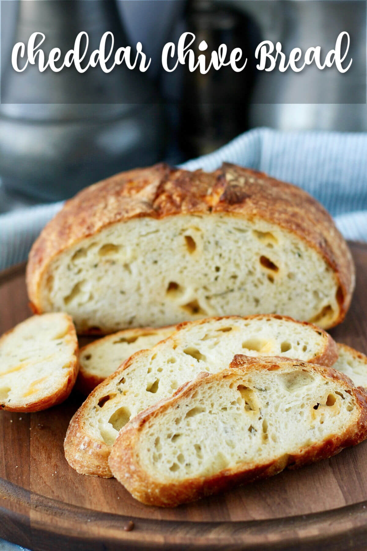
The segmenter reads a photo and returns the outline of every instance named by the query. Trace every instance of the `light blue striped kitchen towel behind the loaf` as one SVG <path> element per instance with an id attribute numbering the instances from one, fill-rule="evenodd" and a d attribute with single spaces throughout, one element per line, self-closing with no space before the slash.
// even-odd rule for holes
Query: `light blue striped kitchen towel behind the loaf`
<path id="1" fill-rule="evenodd" d="M 344 237 L 367 241 L 366 133 L 256 128 L 182 166 L 213 170 L 223 161 L 303 187 L 332 214 Z M 26 259 L 32 242 L 61 207 L 53 203 L 0 215 L 0 269 Z"/>

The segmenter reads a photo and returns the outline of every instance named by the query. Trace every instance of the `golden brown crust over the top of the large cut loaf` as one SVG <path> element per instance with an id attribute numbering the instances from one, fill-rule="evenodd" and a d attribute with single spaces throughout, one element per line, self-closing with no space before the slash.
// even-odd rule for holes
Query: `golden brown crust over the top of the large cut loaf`
<path id="1" fill-rule="evenodd" d="M 343 320 L 354 289 L 354 264 L 330 215 L 300 188 L 229 163 L 210 173 L 158 164 L 122 172 L 78 193 L 32 247 L 26 273 L 32 307 L 41 311 L 40 283 L 50 262 L 81 239 L 132 218 L 202 213 L 264 219 L 306 241 L 335 272 L 339 315 L 332 325 Z"/>

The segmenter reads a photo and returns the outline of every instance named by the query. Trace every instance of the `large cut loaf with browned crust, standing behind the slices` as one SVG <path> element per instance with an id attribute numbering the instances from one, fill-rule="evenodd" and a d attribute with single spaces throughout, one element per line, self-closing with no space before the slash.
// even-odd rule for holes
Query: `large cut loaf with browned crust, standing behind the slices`
<path id="1" fill-rule="evenodd" d="M 328 328 L 349 307 L 354 266 L 300 188 L 227 163 L 159 164 L 68 201 L 32 247 L 26 279 L 34 310 L 67 311 L 78 333 L 264 312 Z"/>

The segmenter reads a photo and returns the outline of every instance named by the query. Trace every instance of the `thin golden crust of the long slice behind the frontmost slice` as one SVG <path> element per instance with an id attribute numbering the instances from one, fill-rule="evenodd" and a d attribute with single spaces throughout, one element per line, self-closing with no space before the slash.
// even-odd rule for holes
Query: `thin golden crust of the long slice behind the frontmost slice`
<path id="1" fill-rule="evenodd" d="M 223 316 L 223 317 L 211 317 L 211 318 L 204 318 L 202 320 L 197 321 L 184 321 L 182 323 L 179 323 L 176 326 L 177 331 L 180 329 L 188 326 L 188 325 L 201 325 L 202 323 L 206 323 L 207 321 L 211 320 L 233 320 L 233 319 L 245 319 L 245 320 L 251 320 L 252 318 L 277 318 L 281 320 L 289 320 L 293 321 L 300 325 L 310 326 L 314 327 L 315 331 L 319 332 L 320 334 L 324 334 L 324 337 L 326 339 L 325 343 L 325 349 L 324 352 L 318 356 L 315 356 L 313 358 L 314 364 L 320 364 L 320 365 L 328 365 L 331 366 L 335 363 L 335 361 L 338 358 L 338 351 L 335 341 L 331 338 L 331 336 L 326 333 L 323 329 L 320 329 L 319 327 L 316 327 L 312 325 L 311 323 L 308 323 L 306 321 L 300 322 L 295 321 L 293 318 L 289 316 L 279 316 L 277 314 L 254 314 L 252 316 Z M 174 338 L 173 333 L 171 337 L 168 338 Z M 95 439 L 91 437 L 89 430 L 87 430 L 87 426 L 85 425 L 85 417 L 87 412 L 90 409 L 90 404 L 93 403 L 94 397 L 97 395 L 100 395 L 100 392 L 103 392 L 105 388 L 108 387 L 109 383 L 114 379 L 114 377 L 122 374 L 124 369 L 127 369 L 132 363 L 134 363 L 137 356 L 144 353 L 144 350 L 139 350 L 139 352 L 135 352 L 135 354 L 132 354 L 130 358 L 127 358 L 122 365 L 111 375 L 109 375 L 105 380 L 103 380 L 100 385 L 94 388 L 94 390 L 91 391 L 90 395 L 86 398 L 85 402 L 80 406 L 78 411 L 75 413 L 72 420 L 70 420 L 69 428 L 67 430 L 67 434 L 65 436 L 64 441 L 64 450 L 65 450 L 65 457 L 67 458 L 68 463 L 78 472 L 81 474 L 92 474 L 93 476 L 100 476 L 104 478 L 111 477 L 111 471 L 108 467 L 108 456 L 111 452 L 112 446 L 108 446 L 103 440 L 101 439 Z M 284 359 L 284 358 L 283 358 Z M 255 358 L 256 360 L 256 358 Z"/>

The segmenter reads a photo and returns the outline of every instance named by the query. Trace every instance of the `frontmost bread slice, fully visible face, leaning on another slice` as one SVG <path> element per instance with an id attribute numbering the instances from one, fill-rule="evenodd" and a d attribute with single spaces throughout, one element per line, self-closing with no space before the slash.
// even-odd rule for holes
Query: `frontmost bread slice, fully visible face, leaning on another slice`
<path id="1" fill-rule="evenodd" d="M 112 447 L 142 503 L 174 506 L 335 455 L 367 437 L 366 395 L 330 368 L 235 356 L 141 412 Z"/>

